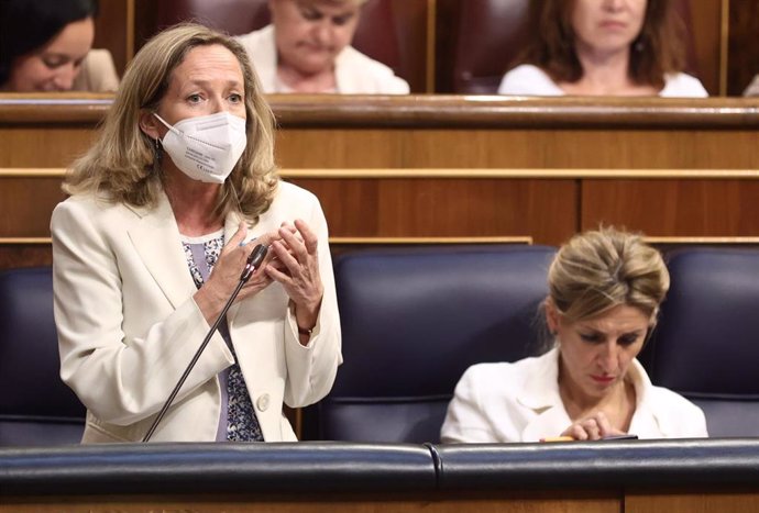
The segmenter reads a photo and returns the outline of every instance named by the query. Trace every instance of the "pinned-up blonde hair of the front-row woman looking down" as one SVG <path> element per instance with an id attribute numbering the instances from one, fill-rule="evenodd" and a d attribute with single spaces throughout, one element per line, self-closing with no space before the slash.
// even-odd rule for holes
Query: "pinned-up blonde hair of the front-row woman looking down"
<path id="1" fill-rule="evenodd" d="M 618 305 L 635 306 L 656 323 L 670 287 L 661 254 L 640 235 L 613 227 L 573 236 L 548 271 L 549 301 L 571 322 Z"/>

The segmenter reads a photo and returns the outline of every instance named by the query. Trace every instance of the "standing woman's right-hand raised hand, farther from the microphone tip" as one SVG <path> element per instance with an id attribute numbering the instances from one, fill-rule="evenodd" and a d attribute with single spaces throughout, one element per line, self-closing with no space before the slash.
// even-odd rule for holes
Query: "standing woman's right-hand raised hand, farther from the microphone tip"
<path id="1" fill-rule="evenodd" d="M 318 237 L 302 220 L 296 220 L 295 226 L 283 223 L 279 235 L 282 239 L 272 244 L 276 259 L 266 266 L 266 274 L 282 283 L 295 304 L 298 327 L 309 331 L 316 325 L 324 293 L 319 274 Z"/>

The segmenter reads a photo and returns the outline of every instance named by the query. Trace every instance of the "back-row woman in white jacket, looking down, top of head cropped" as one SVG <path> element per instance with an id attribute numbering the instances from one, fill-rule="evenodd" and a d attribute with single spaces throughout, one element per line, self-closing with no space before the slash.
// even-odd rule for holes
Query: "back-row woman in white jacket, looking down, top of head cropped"
<path id="1" fill-rule="evenodd" d="M 270 0 L 272 24 L 239 36 L 264 92 L 407 94 L 408 83 L 351 46 L 366 0 Z"/>

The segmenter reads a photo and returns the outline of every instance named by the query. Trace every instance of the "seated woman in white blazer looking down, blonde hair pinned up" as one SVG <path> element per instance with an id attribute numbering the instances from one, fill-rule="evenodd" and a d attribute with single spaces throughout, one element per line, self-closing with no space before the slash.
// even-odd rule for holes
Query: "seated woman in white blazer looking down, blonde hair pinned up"
<path id="1" fill-rule="evenodd" d="M 669 289 L 661 255 L 615 230 L 572 237 L 548 274 L 554 347 L 514 364 L 480 364 L 459 381 L 443 442 L 706 436 L 703 412 L 654 387 L 636 356 Z"/>

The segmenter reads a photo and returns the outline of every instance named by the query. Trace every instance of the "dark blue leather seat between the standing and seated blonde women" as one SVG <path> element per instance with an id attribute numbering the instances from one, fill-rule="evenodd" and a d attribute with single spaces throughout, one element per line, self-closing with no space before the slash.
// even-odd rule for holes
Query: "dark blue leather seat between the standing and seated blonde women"
<path id="1" fill-rule="evenodd" d="M 331 393 L 306 410 L 306 437 L 438 442 L 469 366 L 536 352 L 553 253 L 503 245 L 337 258 L 344 364 Z"/>

